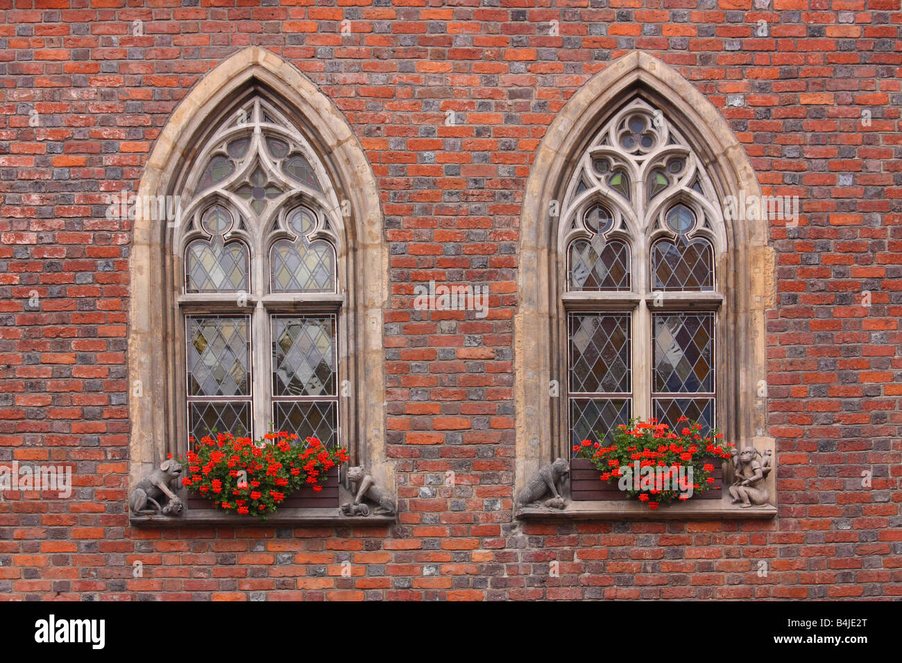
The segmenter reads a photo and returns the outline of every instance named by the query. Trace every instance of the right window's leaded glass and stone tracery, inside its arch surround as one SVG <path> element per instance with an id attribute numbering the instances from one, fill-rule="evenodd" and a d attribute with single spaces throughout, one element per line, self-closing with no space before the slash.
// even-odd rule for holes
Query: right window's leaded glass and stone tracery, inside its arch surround
<path id="1" fill-rule="evenodd" d="M 721 209 L 701 159 L 640 97 L 588 142 L 558 235 L 570 446 L 631 418 L 716 427 Z"/>

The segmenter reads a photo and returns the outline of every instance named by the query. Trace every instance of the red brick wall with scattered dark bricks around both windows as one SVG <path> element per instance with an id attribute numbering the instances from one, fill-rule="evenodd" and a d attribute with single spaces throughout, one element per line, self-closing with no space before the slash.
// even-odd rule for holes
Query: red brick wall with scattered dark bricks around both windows
<path id="1" fill-rule="evenodd" d="M 0 598 L 902 595 L 898 0 L 31 4 L 0 3 L 0 460 L 74 464 L 78 487 L 0 502 Z M 130 232 L 106 220 L 105 192 L 136 188 L 179 99 L 249 44 L 345 112 L 381 188 L 391 531 L 128 526 Z M 566 100 L 633 49 L 722 109 L 766 193 L 802 200 L 798 228 L 770 231 L 778 520 L 512 519 L 529 164 Z M 444 124 L 449 109 L 459 124 Z M 412 283 L 452 275 L 491 281 L 489 317 L 417 321 Z M 429 484 L 449 469 L 453 495 Z"/>

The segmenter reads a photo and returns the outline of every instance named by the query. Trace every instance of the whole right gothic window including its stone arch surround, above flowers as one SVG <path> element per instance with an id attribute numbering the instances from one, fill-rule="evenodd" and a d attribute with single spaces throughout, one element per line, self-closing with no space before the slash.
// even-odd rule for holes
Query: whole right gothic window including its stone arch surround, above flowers
<path id="1" fill-rule="evenodd" d="M 518 484 L 572 456 L 575 437 L 630 417 L 685 414 L 773 446 L 761 386 L 767 222 L 723 207 L 760 196 L 720 113 L 646 53 L 616 60 L 566 104 L 520 219 Z"/>

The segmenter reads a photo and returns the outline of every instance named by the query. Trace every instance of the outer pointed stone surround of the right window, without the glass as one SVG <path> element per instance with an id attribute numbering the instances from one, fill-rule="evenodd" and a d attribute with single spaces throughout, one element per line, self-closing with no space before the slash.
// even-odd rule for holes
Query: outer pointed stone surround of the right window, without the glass
<path id="1" fill-rule="evenodd" d="M 565 391 L 561 355 L 566 356 L 566 344 L 556 332 L 565 315 L 560 274 L 566 274 L 567 247 L 560 218 L 552 214 L 559 214 L 567 199 L 593 195 L 575 179 L 578 162 L 600 128 L 630 99 L 659 109 L 676 127 L 710 175 L 722 204 L 731 196 L 761 197 L 749 158 L 717 108 L 676 69 L 645 52 L 613 61 L 567 102 L 538 146 L 520 216 L 520 308 L 514 320 L 518 483 L 538 463 L 568 457 L 566 436 L 561 435 L 566 422 L 560 421 L 557 404 Z M 611 201 L 617 204 L 615 197 Z M 723 233 L 716 269 L 724 293 L 718 345 L 723 348 L 718 402 L 723 400 L 724 413 L 718 419 L 725 435 L 746 442 L 763 436 L 766 427 L 759 381 L 766 376 L 765 311 L 773 306 L 774 258 L 766 221 L 716 216 L 722 226 L 714 232 Z M 624 307 L 630 297 L 624 294 Z"/>

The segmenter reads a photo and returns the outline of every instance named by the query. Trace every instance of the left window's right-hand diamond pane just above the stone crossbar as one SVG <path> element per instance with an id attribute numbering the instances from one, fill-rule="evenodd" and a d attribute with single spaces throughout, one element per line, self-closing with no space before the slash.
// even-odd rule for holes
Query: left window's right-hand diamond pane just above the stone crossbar
<path id="1" fill-rule="evenodd" d="M 322 240 L 272 245 L 273 292 L 335 292 L 335 252 Z"/>

